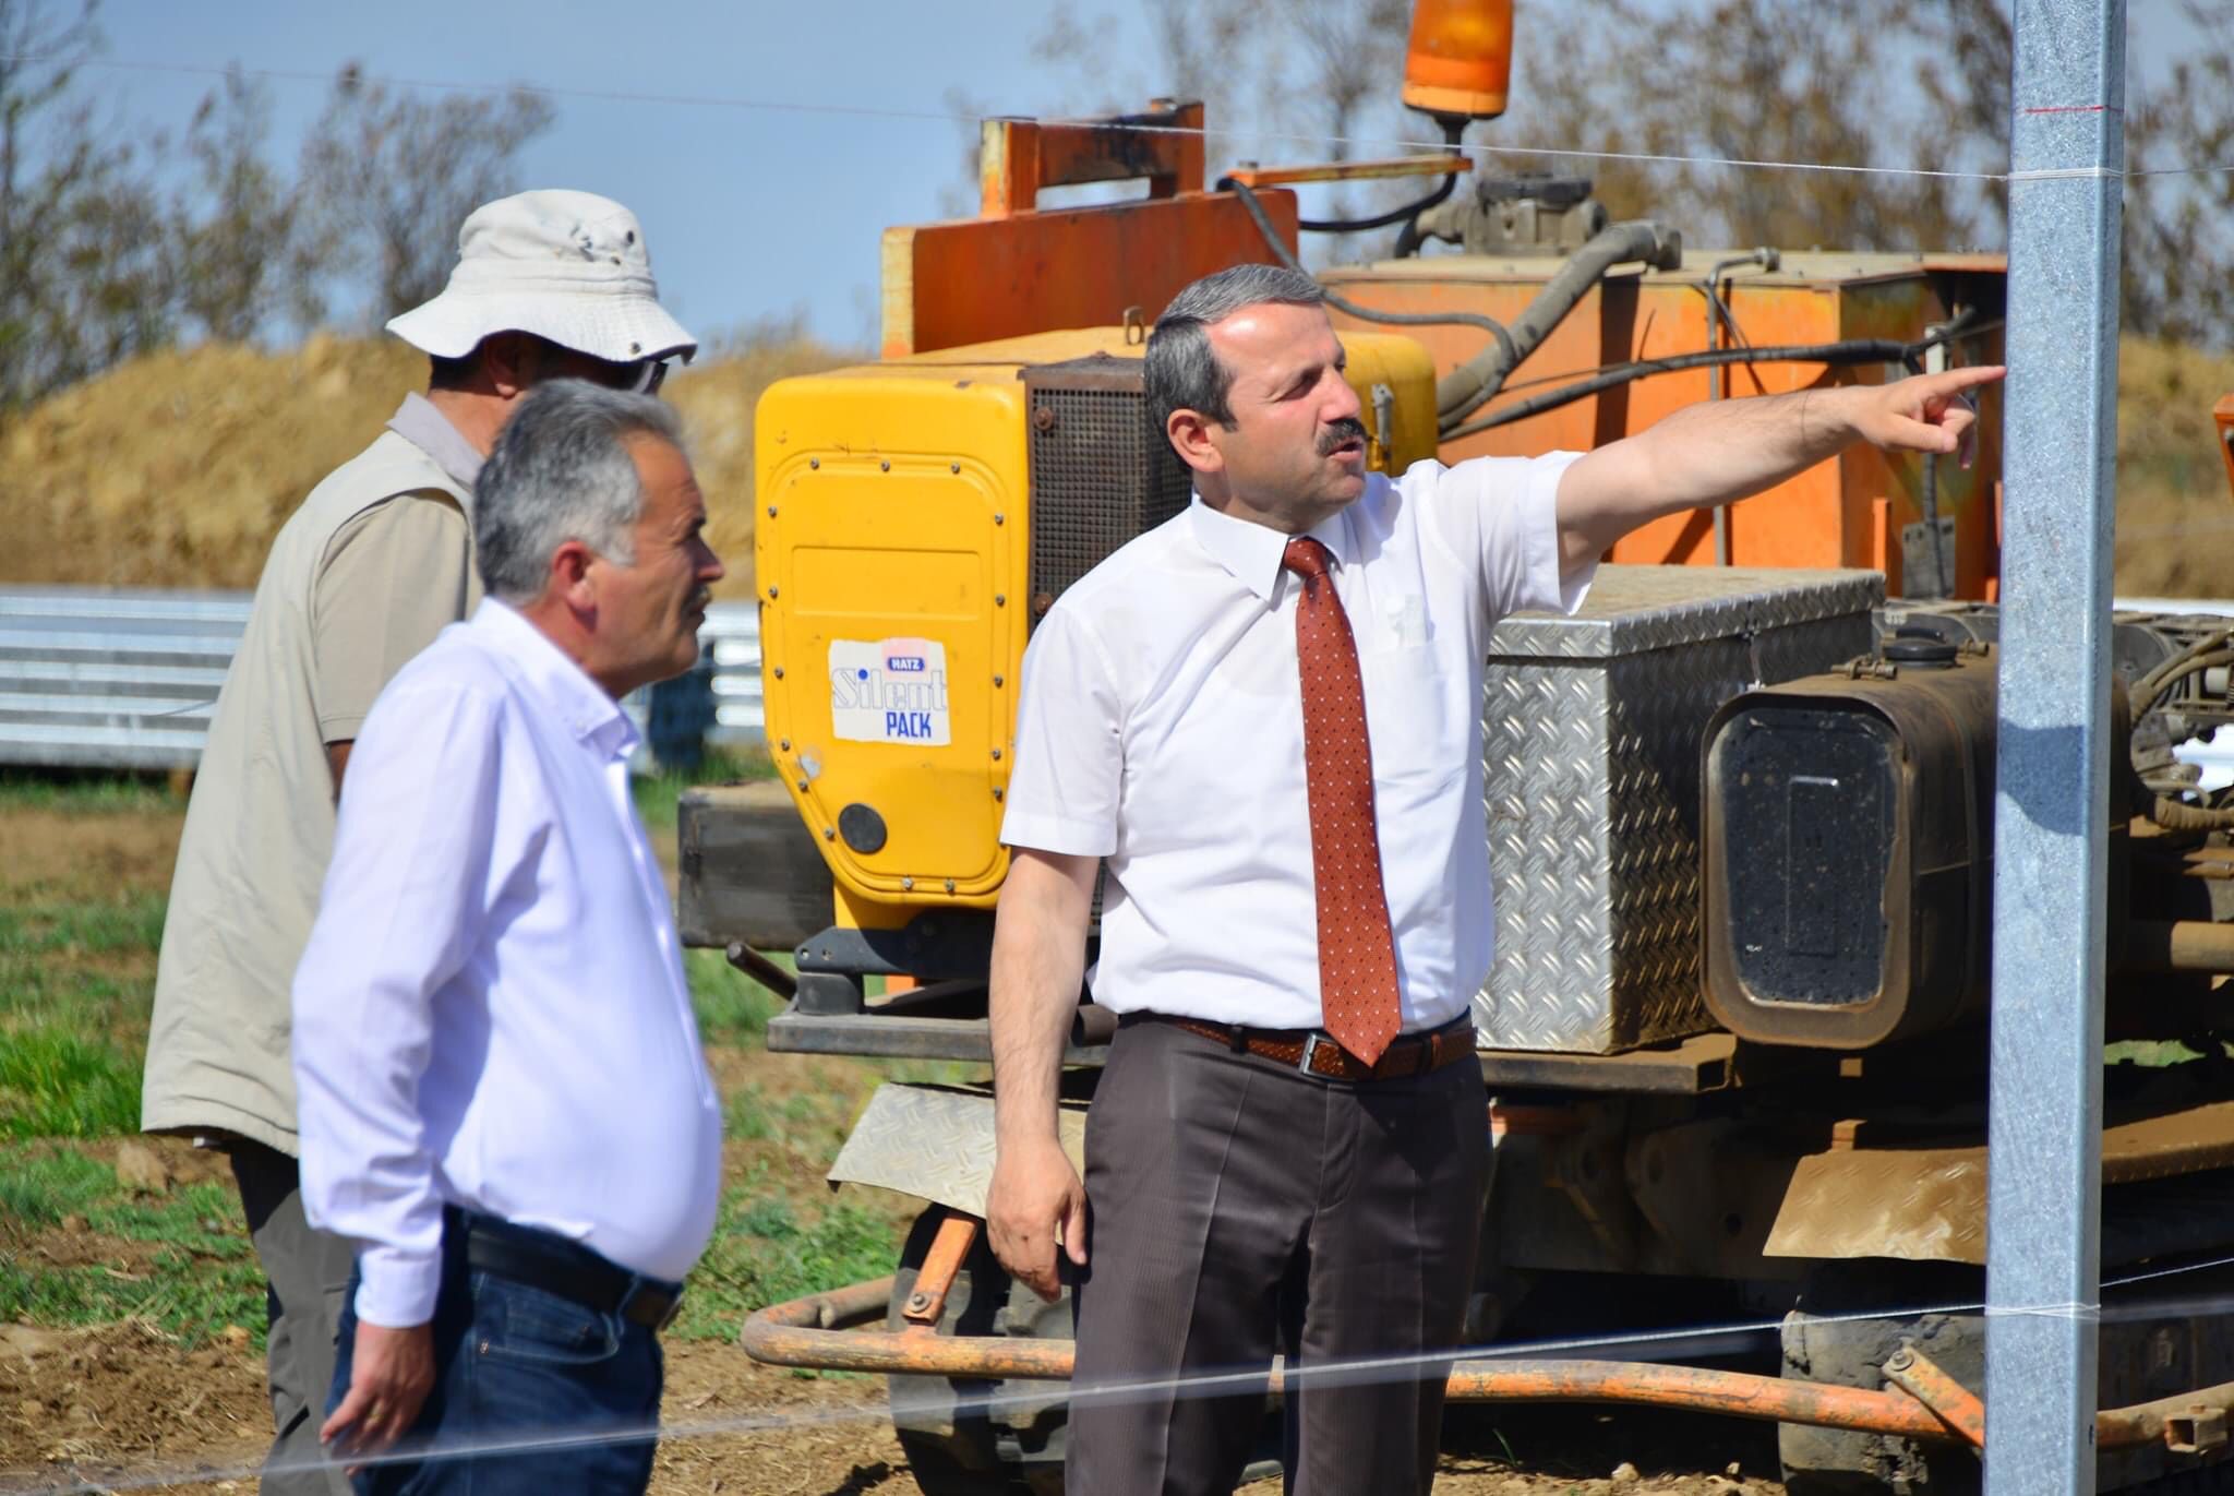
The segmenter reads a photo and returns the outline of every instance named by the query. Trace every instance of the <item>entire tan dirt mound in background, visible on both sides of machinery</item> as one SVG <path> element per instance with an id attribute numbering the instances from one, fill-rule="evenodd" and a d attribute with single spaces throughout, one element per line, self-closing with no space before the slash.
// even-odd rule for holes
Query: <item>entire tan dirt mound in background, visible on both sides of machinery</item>
<path id="1" fill-rule="evenodd" d="M 690 427 L 722 597 L 753 593 L 753 403 L 847 353 L 800 338 L 715 349 L 668 385 Z M 266 353 L 154 353 L 0 429 L 0 581 L 250 588 L 273 532 L 353 456 L 424 360 L 395 342 L 311 338 Z M 2129 338 L 2118 369 L 2118 590 L 2223 595 L 2234 534 L 2212 403 L 2234 358 Z"/>

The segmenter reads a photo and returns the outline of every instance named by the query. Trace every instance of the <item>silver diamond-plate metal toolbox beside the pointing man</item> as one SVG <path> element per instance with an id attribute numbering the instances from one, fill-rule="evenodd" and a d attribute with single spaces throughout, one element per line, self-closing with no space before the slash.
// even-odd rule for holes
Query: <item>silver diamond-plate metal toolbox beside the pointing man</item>
<path id="1" fill-rule="evenodd" d="M 1602 566 L 1575 617 L 1490 631 L 1490 1049 L 1615 1053 L 1713 1026 L 1700 995 L 1700 733 L 1754 684 L 1872 646 L 1874 570 Z"/>

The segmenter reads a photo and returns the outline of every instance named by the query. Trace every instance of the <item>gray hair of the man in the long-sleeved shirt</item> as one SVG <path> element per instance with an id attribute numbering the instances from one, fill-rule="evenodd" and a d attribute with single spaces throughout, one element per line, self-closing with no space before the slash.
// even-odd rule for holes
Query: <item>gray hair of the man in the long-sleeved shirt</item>
<path id="1" fill-rule="evenodd" d="M 541 597 L 552 552 L 567 541 L 621 566 L 637 559 L 643 481 L 630 436 L 684 445 L 675 407 L 652 396 L 583 380 L 527 391 L 474 481 L 474 564 L 491 597 Z"/>

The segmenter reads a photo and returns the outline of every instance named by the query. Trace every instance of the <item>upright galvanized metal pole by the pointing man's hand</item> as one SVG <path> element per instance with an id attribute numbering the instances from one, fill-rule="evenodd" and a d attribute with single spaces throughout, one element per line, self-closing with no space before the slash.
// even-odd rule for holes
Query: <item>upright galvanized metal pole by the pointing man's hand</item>
<path id="1" fill-rule="evenodd" d="M 1986 1494 L 2095 1489 L 2125 0 L 2017 0 Z"/>

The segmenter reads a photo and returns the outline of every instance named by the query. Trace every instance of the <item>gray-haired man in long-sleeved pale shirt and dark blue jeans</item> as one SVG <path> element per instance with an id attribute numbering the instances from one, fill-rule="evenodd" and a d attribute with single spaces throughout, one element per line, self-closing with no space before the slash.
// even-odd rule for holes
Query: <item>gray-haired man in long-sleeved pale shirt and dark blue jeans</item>
<path id="1" fill-rule="evenodd" d="M 697 660 L 704 526 L 666 405 L 538 387 L 476 483 L 485 602 L 357 733 L 295 975 L 304 1210 L 355 1246 L 319 1436 L 436 1454 L 360 1489 L 650 1480 L 722 1107 L 619 698 Z M 440 1458 L 547 1429 L 641 1438 Z"/>

